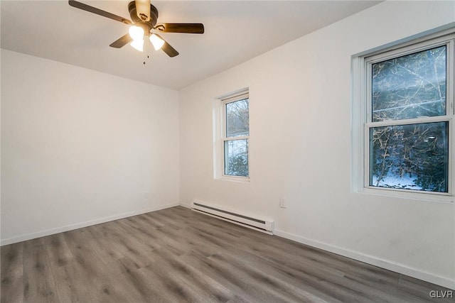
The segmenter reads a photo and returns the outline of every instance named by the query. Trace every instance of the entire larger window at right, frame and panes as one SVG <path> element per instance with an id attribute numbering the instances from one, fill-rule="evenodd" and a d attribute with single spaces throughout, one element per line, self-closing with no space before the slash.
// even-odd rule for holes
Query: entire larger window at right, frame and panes
<path id="1" fill-rule="evenodd" d="M 453 194 L 454 35 L 360 63 L 363 187 Z"/>

